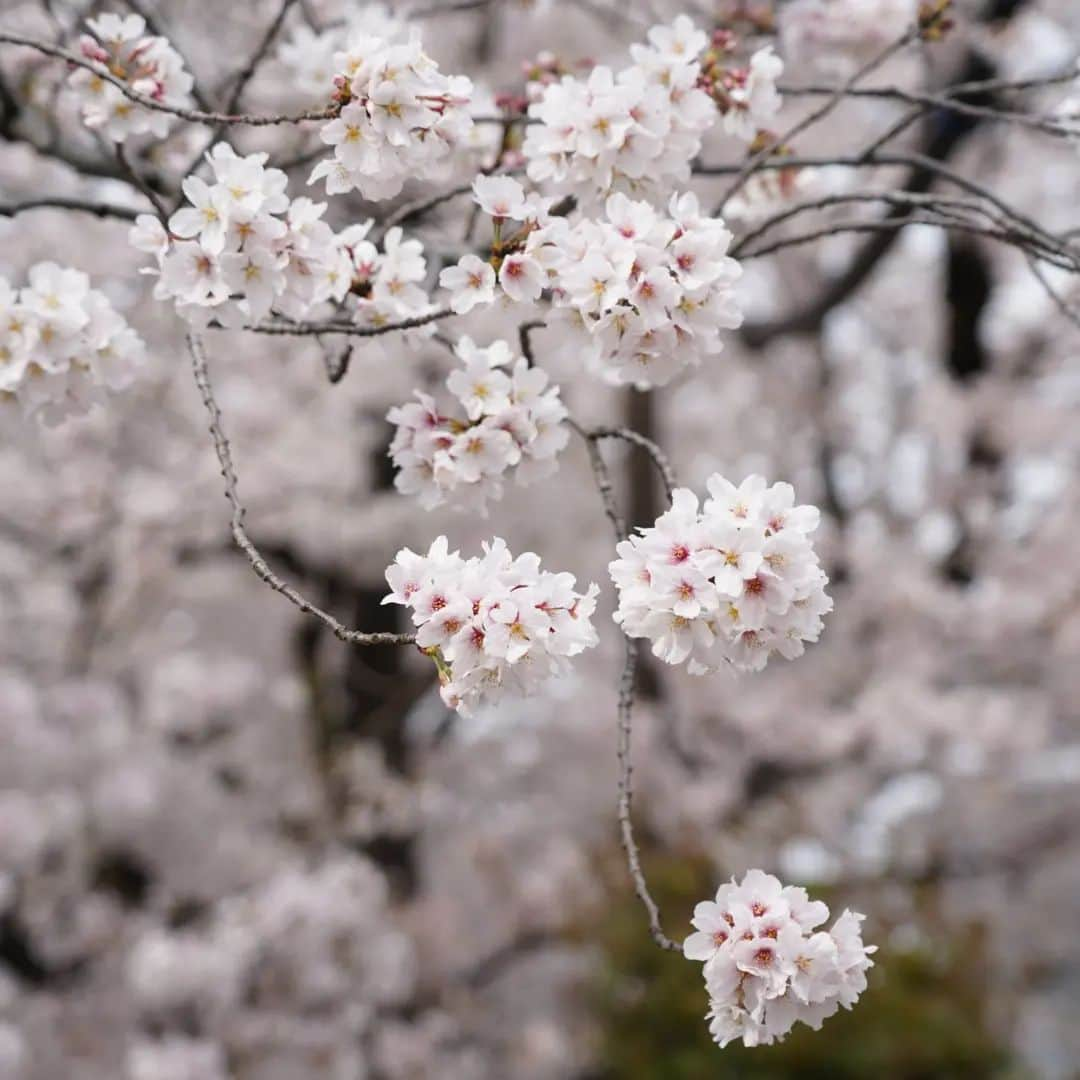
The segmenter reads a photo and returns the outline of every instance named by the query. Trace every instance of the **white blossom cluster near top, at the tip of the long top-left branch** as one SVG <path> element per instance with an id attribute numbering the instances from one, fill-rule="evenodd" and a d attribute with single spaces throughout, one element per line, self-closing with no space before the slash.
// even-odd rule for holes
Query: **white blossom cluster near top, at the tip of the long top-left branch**
<path id="1" fill-rule="evenodd" d="M 472 83 L 444 76 L 417 38 L 395 44 L 357 29 L 335 67 L 341 111 L 320 132 L 334 157 L 309 180 L 325 180 L 327 194 L 392 199 L 407 179 L 435 175 L 468 138 Z"/>

